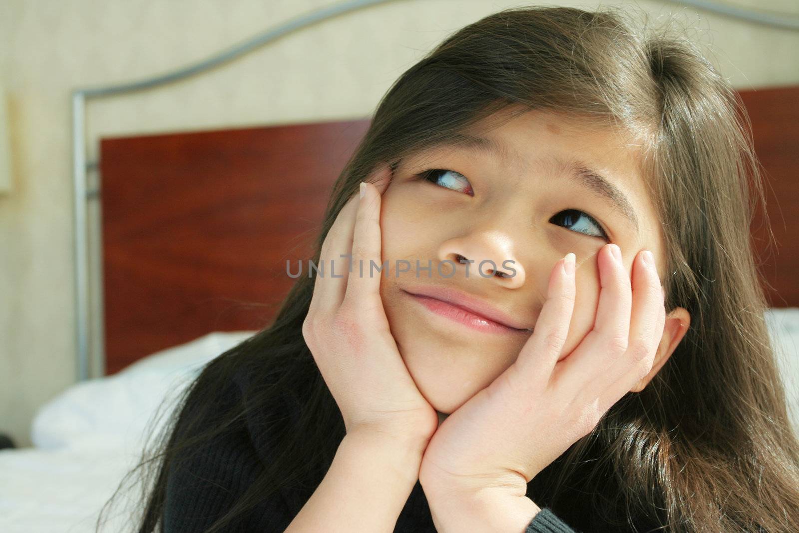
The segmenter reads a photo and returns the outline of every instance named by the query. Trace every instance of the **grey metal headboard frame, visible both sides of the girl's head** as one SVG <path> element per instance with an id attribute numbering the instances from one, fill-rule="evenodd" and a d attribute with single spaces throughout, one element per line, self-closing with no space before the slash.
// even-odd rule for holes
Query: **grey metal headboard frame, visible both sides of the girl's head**
<path id="1" fill-rule="evenodd" d="M 90 99 L 99 97 L 116 96 L 123 93 L 133 93 L 143 89 L 165 86 L 171 82 L 201 74 L 226 62 L 240 58 L 244 54 L 264 46 L 294 30 L 300 30 L 334 18 L 340 14 L 363 9 L 374 4 L 384 4 L 395 0 L 353 0 L 338 5 L 328 6 L 310 14 L 300 15 L 288 22 L 266 30 L 255 37 L 233 46 L 229 50 L 213 55 L 201 62 L 193 63 L 181 69 L 173 70 L 167 74 L 159 74 L 139 82 L 126 82 L 113 86 L 93 87 L 89 89 L 74 89 L 72 93 L 72 147 L 73 147 L 73 182 L 74 182 L 74 283 L 75 283 L 75 340 L 77 344 L 78 381 L 89 379 L 89 272 L 88 272 L 88 245 L 86 233 L 88 231 L 86 213 L 88 201 L 96 201 L 100 197 L 100 185 L 96 189 L 86 186 L 87 173 L 98 168 L 97 161 L 86 161 L 86 118 L 85 108 Z M 668 0 L 666 0 L 668 1 Z M 745 10 L 734 6 L 724 6 L 711 0 L 672 0 L 674 3 L 691 6 L 700 10 L 712 11 L 727 17 L 740 18 L 765 26 L 774 26 L 782 30 L 799 30 L 799 21 L 789 14 L 773 14 L 755 10 Z M 100 317 L 95 317 L 98 331 L 101 332 Z M 101 333 L 102 336 L 102 333 Z M 101 343 L 101 347 L 102 347 Z M 102 348 L 101 348 L 102 349 Z M 103 359 L 97 359 L 102 365 Z M 99 376 L 105 368 L 98 368 Z"/>

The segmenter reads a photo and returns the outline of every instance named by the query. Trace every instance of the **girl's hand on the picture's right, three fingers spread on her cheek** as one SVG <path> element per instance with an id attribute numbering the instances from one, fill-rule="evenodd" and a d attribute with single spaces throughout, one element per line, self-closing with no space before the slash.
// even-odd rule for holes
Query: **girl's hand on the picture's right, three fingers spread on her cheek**
<path id="1" fill-rule="evenodd" d="M 419 482 L 428 496 L 494 487 L 525 495 L 539 471 L 650 372 L 666 309 L 657 269 L 644 255 L 635 258 L 630 283 L 618 246 L 600 250 L 594 328 L 562 360 L 574 309 L 574 262 L 570 273 L 568 256 L 555 264 L 547 301 L 518 359 L 448 416 L 427 444 Z"/>

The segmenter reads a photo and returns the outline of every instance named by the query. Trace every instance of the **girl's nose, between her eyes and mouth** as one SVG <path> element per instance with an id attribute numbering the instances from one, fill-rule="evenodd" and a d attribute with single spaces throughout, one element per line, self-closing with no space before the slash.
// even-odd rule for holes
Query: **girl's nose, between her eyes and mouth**
<path id="1" fill-rule="evenodd" d="M 511 252 L 511 237 L 502 232 L 479 232 L 445 241 L 439 261 L 452 261 L 455 276 L 494 280 L 503 287 L 524 284 L 524 268 Z"/>

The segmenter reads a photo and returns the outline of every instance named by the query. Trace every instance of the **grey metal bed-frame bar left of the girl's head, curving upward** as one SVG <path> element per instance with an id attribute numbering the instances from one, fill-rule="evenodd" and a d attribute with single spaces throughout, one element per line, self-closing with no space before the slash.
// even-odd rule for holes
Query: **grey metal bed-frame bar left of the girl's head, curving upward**
<path id="1" fill-rule="evenodd" d="M 129 93 L 151 87 L 163 86 L 170 82 L 175 82 L 183 78 L 189 78 L 195 74 L 200 74 L 213 69 L 223 63 L 233 61 L 264 46 L 268 42 L 274 41 L 281 35 L 291 31 L 299 30 L 317 22 L 336 17 L 340 14 L 360 10 L 373 4 L 384 4 L 396 0 L 354 0 L 316 10 L 310 14 L 300 15 L 284 22 L 254 38 L 248 39 L 238 46 L 233 46 L 220 54 L 215 54 L 193 65 L 174 70 L 167 74 L 160 74 L 153 78 L 146 78 L 138 82 L 123 83 L 114 86 L 101 86 L 85 89 L 75 89 L 72 93 L 72 153 L 73 153 L 73 190 L 74 190 L 74 288 L 75 288 L 75 337 L 77 344 L 77 372 L 78 381 L 89 379 L 89 271 L 88 271 L 88 246 L 86 243 L 86 201 L 91 197 L 97 197 L 97 191 L 93 190 L 89 195 L 86 191 L 86 170 L 96 163 L 86 163 L 85 154 L 85 106 L 86 100 L 93 97 L 105 97 L 121 93 Z M 101 370 L 101 373 L 105 372 Z"/>

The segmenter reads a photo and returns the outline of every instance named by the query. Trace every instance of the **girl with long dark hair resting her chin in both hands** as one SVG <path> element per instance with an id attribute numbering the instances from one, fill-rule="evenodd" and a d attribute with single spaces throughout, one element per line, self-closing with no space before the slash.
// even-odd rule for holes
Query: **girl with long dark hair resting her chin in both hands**
<path id="1" fill-rule="evenodd" d="M 139 465 L 138 531 L 799 531 L 737 113 L 611 8 L 447 38 L 380 102 L 319 270 Z"/>

